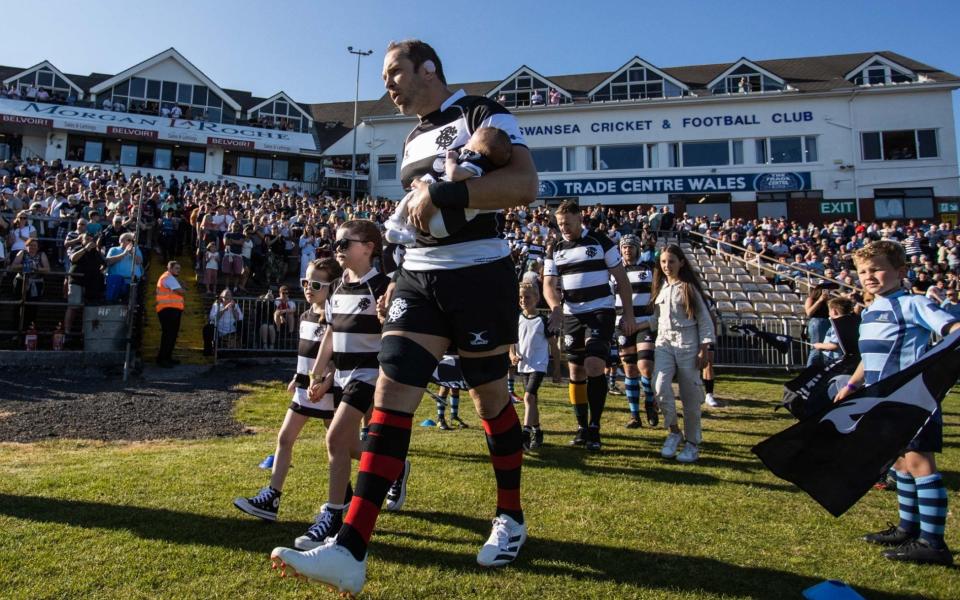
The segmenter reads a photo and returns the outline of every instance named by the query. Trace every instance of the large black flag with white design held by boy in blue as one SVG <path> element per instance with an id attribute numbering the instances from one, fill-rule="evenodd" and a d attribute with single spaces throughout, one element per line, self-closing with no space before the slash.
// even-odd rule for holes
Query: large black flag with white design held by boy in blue
<path id="1" fill-rule="evenodd" d="M 775 475 L 836 517 L 919 433 L 960 375 L 960 332 L 882 379 L 753 447 Z"/>

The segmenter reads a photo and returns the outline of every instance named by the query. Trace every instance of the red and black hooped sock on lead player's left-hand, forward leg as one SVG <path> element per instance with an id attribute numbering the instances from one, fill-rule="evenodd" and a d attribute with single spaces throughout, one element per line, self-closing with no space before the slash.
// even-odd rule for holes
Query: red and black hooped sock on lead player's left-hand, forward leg
<path id="1" fill-rule="evenodd" d="M 354 558 L 363 560 L 370 536 L 380 515 L 387 491 L 403 471 L 403 461 L 410 447 L 410 413 L 373 409 L 370 435 L 360 454 L 360 473 L 353 492 L 350 510 L 337 534 L 337 543 L 350 550 Z"/>

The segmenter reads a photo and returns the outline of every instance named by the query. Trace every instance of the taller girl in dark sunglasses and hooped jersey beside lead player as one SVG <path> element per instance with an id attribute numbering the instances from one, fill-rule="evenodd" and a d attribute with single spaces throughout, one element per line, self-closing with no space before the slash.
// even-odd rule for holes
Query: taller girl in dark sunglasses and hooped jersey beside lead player
<path id="1" fill-rule="evenodd" d="M 341 391 L 333 422 L 327 430 L 330 481 L 327 503 L 316 523 L 294 542 L 298 550 L 311 550 L 335 535 L 343 525 L 350 503 L 351 459 L 360 458 L 360 422 L 373 408 L 373 392 L 379 376 L 382 321 L 377 303 L 390 279 L 373 267 L 383 246 L 380 230 L 373 221 L 351 220 L 337 229 L 333 244 L 343 276 L 334 282 L 325 313 L 330 327 L 324 334 L 312 369 L 311 397 L 322 391 L 321 376 L 333 364 L 334 384 Z M 388 493 L 387 510 L 399 510 L 406 496 L 409 463 L 395 493 Z"/>

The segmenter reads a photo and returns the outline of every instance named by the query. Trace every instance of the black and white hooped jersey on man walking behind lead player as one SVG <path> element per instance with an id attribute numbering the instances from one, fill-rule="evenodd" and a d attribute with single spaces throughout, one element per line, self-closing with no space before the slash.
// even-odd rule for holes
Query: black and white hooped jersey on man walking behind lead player
<path id="1" fill-rule="evenodd" d="M 609 269 L 620 260 L 620 249 L 610 238 L 584 230 L 577 239 L 562 240 L 547 251 L 543 275 L 560 278 L 564 314 L 613 309 Z"/>

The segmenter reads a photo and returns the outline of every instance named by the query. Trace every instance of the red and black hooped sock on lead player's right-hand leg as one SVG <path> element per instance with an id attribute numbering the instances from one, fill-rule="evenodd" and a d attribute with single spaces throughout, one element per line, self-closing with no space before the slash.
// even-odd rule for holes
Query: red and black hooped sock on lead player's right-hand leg
<path id="1" fill-rule="evenodd" d="M 523 464 L 523 431 L 513 403 L 508 402 L 500 414 L 483 419 L 487 448 L 497 478 L 497 514 L 509 515 L 523 523 L 520 506 L 520 468 Z"/>

